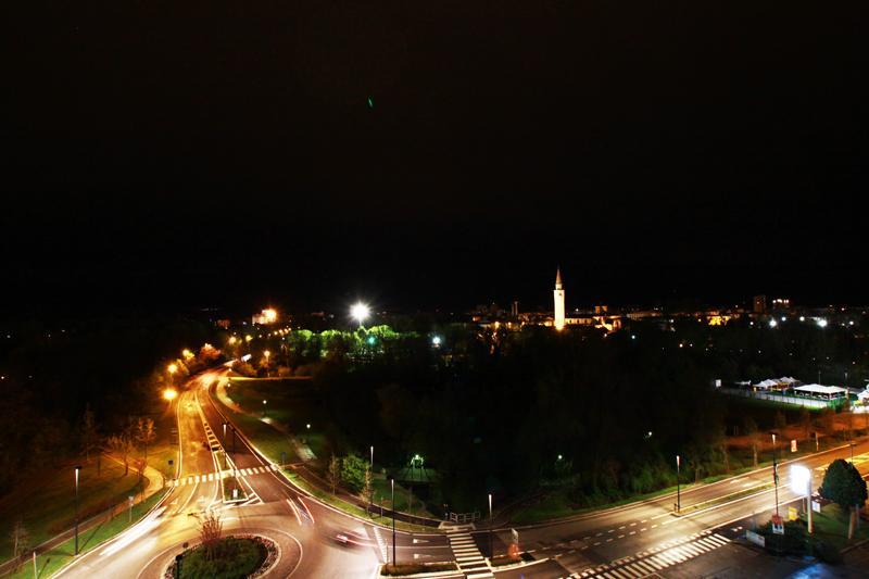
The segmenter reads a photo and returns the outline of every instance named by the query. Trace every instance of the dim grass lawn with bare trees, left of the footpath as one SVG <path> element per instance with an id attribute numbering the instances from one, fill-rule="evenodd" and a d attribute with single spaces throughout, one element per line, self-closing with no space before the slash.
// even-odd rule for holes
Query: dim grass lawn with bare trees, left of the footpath
<path id="1" fill-rule="evenodd" d="M 124 465 L 105 457 L 97 477 L 97 460 L 83 461 L 79 475 L 79 513 L 89 518 L 118 503 L 139 490 L 139 476 L 133 470 L 124 476 Z M 30 544 L 37 545 L 73 527 L 75 523 L 75 463 L 58 468 L 47 468 L 20 484 L 0 502 L 0 558 L 12 556 L 10 530 L 22 518 L 30 534 Z"/>

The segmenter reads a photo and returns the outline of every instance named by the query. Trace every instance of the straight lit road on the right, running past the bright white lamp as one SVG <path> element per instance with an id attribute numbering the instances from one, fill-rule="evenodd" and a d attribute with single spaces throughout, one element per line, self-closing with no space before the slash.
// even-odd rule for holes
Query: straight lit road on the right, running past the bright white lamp
<path id="1" fill-rule="evenodd" d="M 855 465 L 869 471 L 869 443 L 855 446 Z M 813 469 L 813 488 L 823 479 L 823 467 L 835 458 L 851 456 L 847 446 L 796 461 Z M 785 457 L 786 458 L 786 457 Z M 790 489 L 790 464 L 779 467 L 779 509 L 788 515 L 789 503 L 798 501 Z M 525 577 L 645 577 L 667 575 L 678 565 L 728 547 L 753 518 L 758 525 L 774 513 L 772 469 L 764 468 L 682 492 L 682 516 L 673 515 L 675 495 L 634 503 L 589 514 L 558 524 L 519 528 L 522 550 L 551 561 L 522 570 Z M 477 541 L 486 544 L 488 533 L 480 531 Z M 506 530 L 495 533 L 495 549 L 505 550 Z M 500 546 L 499 546 L 500 545 Z M 504 551 L 501 551 L 504 552 Z M 617 572 L 613 572 L 613 568 Z M 584 575 L 583 575 L 584 572 Z M 519 577 L 519 572 L 499 577 Z"/>

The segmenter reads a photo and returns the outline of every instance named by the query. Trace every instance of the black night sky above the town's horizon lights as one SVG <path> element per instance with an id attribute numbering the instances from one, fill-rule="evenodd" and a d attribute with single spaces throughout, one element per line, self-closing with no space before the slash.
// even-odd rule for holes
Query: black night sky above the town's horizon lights
<path id="1" fill-rule="evenodd" d="M 866 301 L 856 2 L 11 4 L 7 310 Z"/>

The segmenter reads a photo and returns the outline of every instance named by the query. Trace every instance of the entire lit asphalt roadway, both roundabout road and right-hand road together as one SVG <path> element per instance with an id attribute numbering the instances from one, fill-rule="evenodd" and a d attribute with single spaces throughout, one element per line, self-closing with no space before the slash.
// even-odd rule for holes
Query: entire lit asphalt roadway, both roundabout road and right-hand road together
<path id="1" fill-rule="evenodd" d="M 191 379 L 177 401 L 181 460 L 178 480 L 169 495 L 141 523 L 100 549 L 83 555 L 61 575 L 64 577 L 117 578 L 160 577 L 184 542 L 198 540 L 199 516 L 207 508 L 221 511 L 227 531 L 264 534 L 281 546 L 281 561 L 267 577 L 364 577 L 375 576 L 379 564 L 392 559 L 392 532 L 341 513 L 292 487 L 243 436 L 232 450 L 231 428 L 224 435 L 225 417 L 209 393 L 225 369 L 210 370 Z M 240 473 L 244 500 L 227 503 L 221 483 L 224 450 L 230 451 L 232 468 Z M 858 467 L 869 466 L 869 442 L 854 449 Z M 866 454 L 866 456 L 864 456 Z M 799 460 L 815 474 L 834 458 L 849 457 L 842 448 Z M 782 456 L 786 458 L 786 456 Z M 790 469 L 779 469 L 779 504 L 798 498 L 789 488 Z M 228 482 L 229 479 L 224 479 Z M 744 534 L 752 518 L 768 520 L 774 508 L 771 468 L 692 488 L 682 492 L 681 515 L 673 513 L 675 495 L 665 495 L 569 520 L 521 527 L 519 542 L 543 563 L 499 572 L 508 577 L 602 576 L 624 579 L 647 575 L 672 575 L 701 561 L 715 562 L 733 549 L 732 540 Z M 786 513 L 786 507 L 782 506 Z M 339 533 L 349 544 L 336 540 Z M 471 533 L 476 546 L 489 552 L 487 530 Z M 506 552 L 509 529 L 491 536 L 495 554 Z M 445 536 L 395 533 L 398 561 L 454 561 Z M 458 554 L 459 557 L 462 554 Z M 706 558 L 704 558 L 706 557 Z M 711 564 L 711 563 L 710 563 Z"/>

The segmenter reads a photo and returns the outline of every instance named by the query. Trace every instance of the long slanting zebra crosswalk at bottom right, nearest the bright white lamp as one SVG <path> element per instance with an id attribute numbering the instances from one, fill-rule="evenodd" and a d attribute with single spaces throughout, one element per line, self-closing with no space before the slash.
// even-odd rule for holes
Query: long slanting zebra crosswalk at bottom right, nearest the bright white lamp
<path id="1" fill-rule="evenodd" d="M 655 575 L 667 567 L 679 565 L 730 543 L 730 539 L 711 531 L 703 531 L 678 541 L 670 541 L 634 556 L 620 558 L 605 565 L 577 571 L 569 577 L 604 577 L 606 579 L 640 579 Z"/>

